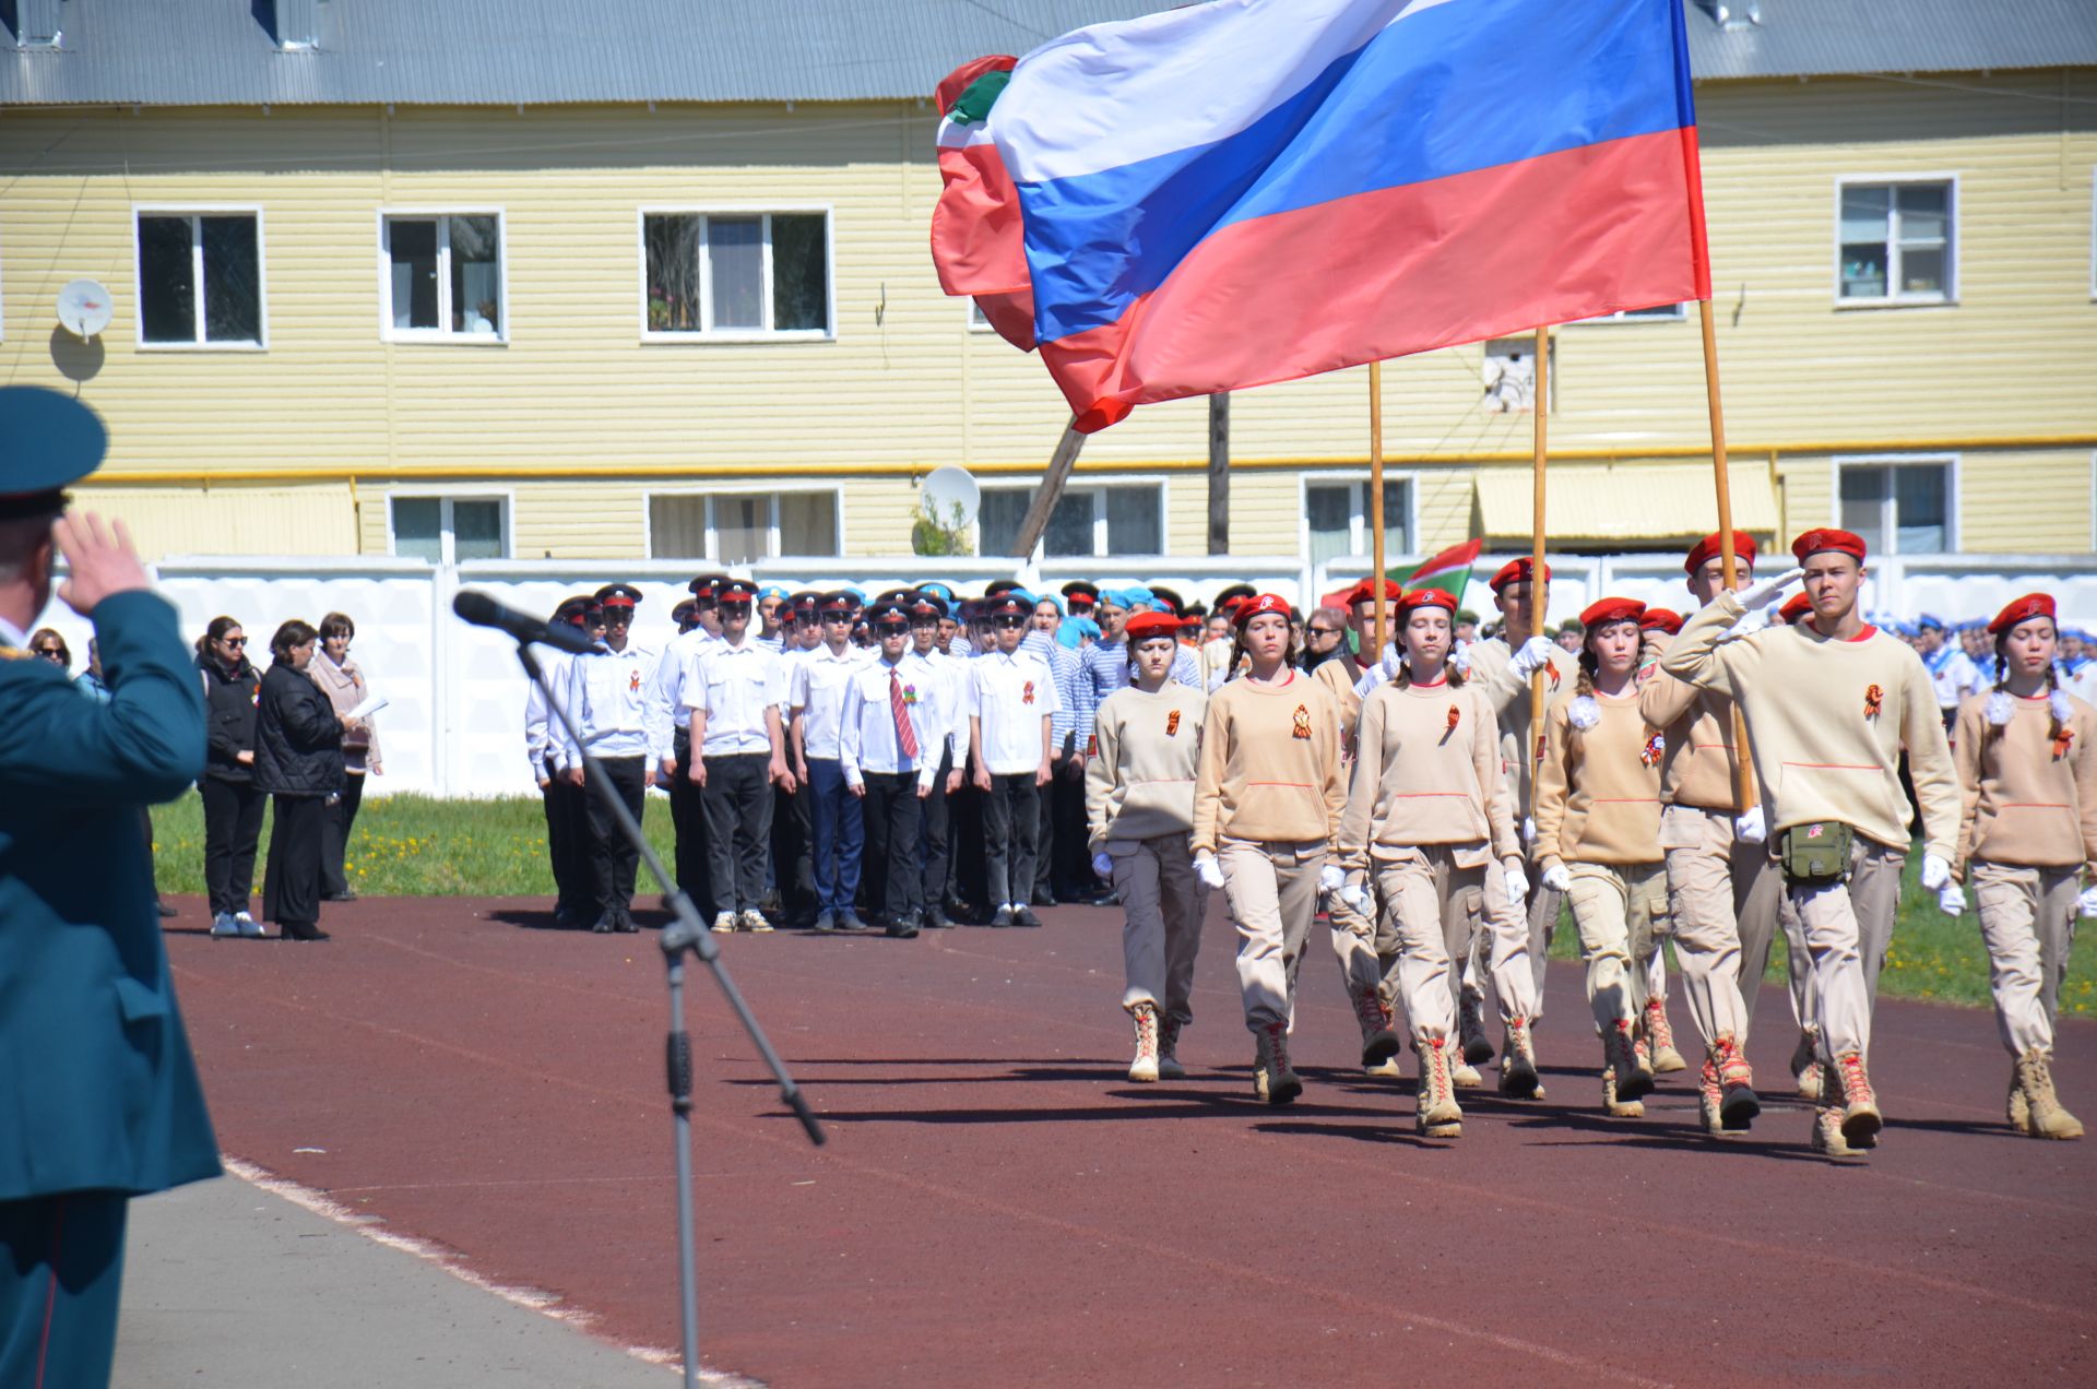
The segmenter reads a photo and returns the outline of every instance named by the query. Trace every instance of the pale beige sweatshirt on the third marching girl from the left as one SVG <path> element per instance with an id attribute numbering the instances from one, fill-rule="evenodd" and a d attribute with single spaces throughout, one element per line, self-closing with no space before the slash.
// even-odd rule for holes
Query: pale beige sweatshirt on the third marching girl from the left
<path id="1" fill-rule="evenodd" d="M 1340 862 L 1369 867 L 1376 850 L 1472 846 L 1474 858 L 1520 852 L 1499 728 L 1472 686 L 1384 684 L 1361 705 L 1355 776 L 1340 816 Z M 1474 864 L 1466 864 L 1474 867 Z"/>

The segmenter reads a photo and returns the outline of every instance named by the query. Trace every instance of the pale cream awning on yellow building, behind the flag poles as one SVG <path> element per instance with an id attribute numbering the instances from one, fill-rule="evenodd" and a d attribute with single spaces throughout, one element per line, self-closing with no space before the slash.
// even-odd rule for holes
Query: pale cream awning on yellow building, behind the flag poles
<path id="1" fill-rule="evenodd" d="M 1774 535 L 1780 522 L 1770 464 L 1734 462 L 1728 472 L 1734 529 Z M 1476 480 L 1487 546 L 1527 541 L 1535 499 L 1531 470 L 1478 468 Z M 1545 489 L 1543 522 L 1552 543 L 1694 541 L 1717 529 L 1711 464 L 1552 464 Z"/>

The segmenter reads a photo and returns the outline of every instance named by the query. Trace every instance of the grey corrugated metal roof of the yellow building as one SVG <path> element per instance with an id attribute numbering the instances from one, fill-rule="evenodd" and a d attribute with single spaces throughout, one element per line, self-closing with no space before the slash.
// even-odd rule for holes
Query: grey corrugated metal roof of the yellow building
<path id="1" fill-rule="evenodd" d="M 63 0 L 0 105 L 895 101 L 1162 0 Z M 2091 0 L 1684 0 L 1699 78 L 2097 65 Z M 319 17 L 312 50 L 277 42 Z M 1720 23 L 1720 13 L 1728 23 Z M 1747 19 L 1755 15 L 1757 19 Z"/>

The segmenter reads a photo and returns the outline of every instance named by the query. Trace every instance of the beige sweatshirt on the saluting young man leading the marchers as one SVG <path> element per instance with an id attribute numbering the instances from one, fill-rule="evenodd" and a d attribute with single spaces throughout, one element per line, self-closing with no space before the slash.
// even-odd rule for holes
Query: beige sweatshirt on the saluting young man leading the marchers
<path id="1" fill-rule="evenodd" d="M 1720 644 L 1738 617 L 1738 596 L 1720 594 L 1682 625 L 1661 669 L 1741 701 L 1772 841 L 1793 825 L 1841 820 L 1906 850 L 1898 770 L 1906 745 L 1925 850 L 1952 860 L 1959 778 L 1923 659 L 1883 632 L 1837 642 L 1812 623 Z"/>

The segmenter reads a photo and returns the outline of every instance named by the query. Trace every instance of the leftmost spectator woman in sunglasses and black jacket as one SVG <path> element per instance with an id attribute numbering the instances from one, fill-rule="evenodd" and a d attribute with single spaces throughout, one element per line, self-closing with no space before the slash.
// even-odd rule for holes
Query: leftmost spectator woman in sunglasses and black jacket
<path id="1" fill-rule="evenodd" d="M 262 676 L 247 663 L 247 634 L 233 617 L 214 617 L 197 638 L 203 678 L 206 757 L 197 793 L 203 797 L 203 885 L 212 898 L 212 936 L 262 934 L 247 911 L 254 892 L 256 843 L 268 797 L 254 785 L 256 701 Z"/>

